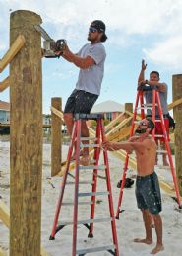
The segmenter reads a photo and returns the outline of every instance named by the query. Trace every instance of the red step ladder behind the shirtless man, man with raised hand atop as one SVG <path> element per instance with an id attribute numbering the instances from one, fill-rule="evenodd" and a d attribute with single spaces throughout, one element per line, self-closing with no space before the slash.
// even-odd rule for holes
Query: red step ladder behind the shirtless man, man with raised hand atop
<path id="1" fill-rule="evenodd" d="M 151 90 L 152 91 L 152 103 L 151 104 L 145 104 L 144 103 L 144 92 Z M 140 102 L 140 107 L 138 107 Z M 159 113 L 159 119 L 155 119 L 155 108 L 158 109 L 158 113 Z M 159 98 L 159 93 L 156 89 L 155 86 L 139 86 L 138 87 L 138 93 L 137 93 L 137 99 L 136 99 L 136 104 L 135 104 L 135 109 L 134 109 L 134 116 L 133 116 L 133 120 L 132 120 L 132 128 L 130 130 L 130 137 L 134 135 L 134 128 L 135 128 L 135 123 L 136 123 L 136 117 L 137 117 L 137 111 L 138 109 L 141 109 L 141 118 L 145 119 L 145 109 L 151 109 L 152 110 L 152 121 L 155 124 L 155 122 L 160 122 L 161 123 L 161 127 L 162 127 L 162 135 L 157 135 L 155 134 L 155 128 L 152 130 L 152 138 L 163 138 L 164 139 L 164 144 L 165 144 L 165 153 L 167 153 L 168 155 L 168 159 L 169 159 L 169 165 L 170 165 L 170 170 L 171 170 L 171 174 L 172 174 L 172 179 L 173 179 L 173 183 L 174 183 L 174 189 L 175 189 L 175 193 L 176 193 L 176 201 L 177 204 L 179 205 L 179 208 L 182 208 L 181 205 L 181 200 L 180 200 L 180 194 L 179 194 L 179 188 L 178 188 L 178 184 L 177 184 L 177 180 L 176 180 L 176 172 L 175 172 L 175 168 L 174 168 L 174 164 L 173 164 L 173 160 L 172 160 L 172 156 L 171 156 L 171 150 L 169 147 L 169 141 L 168 141 L 168 137 L 167 137 L 167 132 L 166 132 L 166 128 L 164 125 L 164 118 L 163 118 L 163 113 L 162 113 L 162 108 L 161 108 L 161 103 L 160 103 L 160 98 Z M 159 150 L 161 152 L 161 150 Z M 158 150 L 157 150 L 158 152 Z M 117 213 L 116 213 L 116 218 L 119 219 L 119 214 L 122 213 L 121 210 L 121 203 L 122 203 L 122 198 L 123 198 L 123 190 L 124 190 L 124 186 L 125 186 L 125 182 L 126 182 L 126 175 L 127 175 L 127 170 L 128 170 L 128 162 L 129 162 L 129 154 L 126 154 L 126 158 L 125 158 L 125 163 L 124 163 L 124 168 L 123 168 L 123 176 L 122 176 L 122 183 L 121 183 L 121 188 L 120 188 L 120 194 L 119 194 L 119 200 L 118 200 L 118 206 L 117 206 Z"/>

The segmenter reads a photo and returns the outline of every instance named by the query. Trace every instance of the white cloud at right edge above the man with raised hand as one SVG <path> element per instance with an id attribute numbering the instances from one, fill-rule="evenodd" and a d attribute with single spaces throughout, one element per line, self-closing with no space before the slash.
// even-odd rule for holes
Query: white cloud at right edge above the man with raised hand
<path id="1" fill-rule="evenodd" d="M 182 36 L 157 43 L 151 49 L 144 49 L 144 52 L 147 58 L 163 67 L 169 67 L 176 71 L 182 69 Z"/>

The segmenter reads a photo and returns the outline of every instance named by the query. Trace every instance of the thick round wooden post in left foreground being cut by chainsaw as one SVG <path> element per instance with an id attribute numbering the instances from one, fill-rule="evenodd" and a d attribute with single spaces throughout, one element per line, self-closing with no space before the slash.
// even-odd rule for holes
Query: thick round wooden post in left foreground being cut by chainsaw
<path id="1" fill-rule="evenodd" d="M 10 44 L 26 43 L 10 65 L 10 256 L 40 255 L 42 177 L 41 37 L 39 15 L 15 11 Z"/>

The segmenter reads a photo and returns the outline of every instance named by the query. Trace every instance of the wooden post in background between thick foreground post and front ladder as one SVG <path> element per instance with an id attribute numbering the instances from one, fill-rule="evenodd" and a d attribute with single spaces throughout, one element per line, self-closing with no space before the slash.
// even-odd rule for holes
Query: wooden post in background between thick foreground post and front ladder
<path id="1" fill-rule="evenodd" d="M 58 111 L 62 111 L 61 98 L 52 98 L 51 105 Z M 62 119 L 51 111 L 51 176 L 60 172 L 62 162 Z"/>

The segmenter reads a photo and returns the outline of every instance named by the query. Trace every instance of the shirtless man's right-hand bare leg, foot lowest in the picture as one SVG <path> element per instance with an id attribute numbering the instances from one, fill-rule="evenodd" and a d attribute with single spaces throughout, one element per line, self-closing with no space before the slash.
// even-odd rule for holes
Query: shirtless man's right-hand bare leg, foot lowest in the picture
<path id="1" fill-rule="evenodd" d="M 156 254 L 157 252 L 164 250 L 162 243 L 162 220 L 159 213 L 152 216 L 154 220 L 157 241 L 156 246 L 152 249 L 151 254 Z"/>

